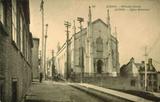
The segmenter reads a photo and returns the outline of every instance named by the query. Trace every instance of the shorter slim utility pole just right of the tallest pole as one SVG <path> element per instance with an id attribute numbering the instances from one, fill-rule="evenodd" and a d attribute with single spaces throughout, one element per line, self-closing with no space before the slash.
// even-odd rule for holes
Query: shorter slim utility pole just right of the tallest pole
<path id="1" fill-rule="evenodd" d="M 46 45 L 47 45 L 47 30 L 48 30 L 48 24 L 46 24 L 46 35 L 45 35 L 45 42 L 44 42 L 44 76 L 45 76 L 45 79 L 46 79 L 46 73 L 47 73 L 47 70 L 46 70 L 46 66 L 47 66 L 47 64 L 46 64 Z"/>

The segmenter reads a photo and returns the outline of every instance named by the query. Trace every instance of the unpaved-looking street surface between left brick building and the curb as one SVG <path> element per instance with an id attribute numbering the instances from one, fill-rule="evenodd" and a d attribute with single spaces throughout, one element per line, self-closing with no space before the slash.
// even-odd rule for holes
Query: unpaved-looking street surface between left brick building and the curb
<path id="1" fill-rule="evenodd" d="M 33 82 L 26 96 L 26 102 L 103 102 L 67 83 L 44 81 Z"/>

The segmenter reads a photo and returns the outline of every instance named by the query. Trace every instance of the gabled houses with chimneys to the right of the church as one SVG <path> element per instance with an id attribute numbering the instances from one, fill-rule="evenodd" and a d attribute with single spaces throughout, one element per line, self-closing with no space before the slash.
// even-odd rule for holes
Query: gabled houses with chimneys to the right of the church
<path id="1" fill-rule="evenodd" d="M 147 90 L 160 91 L 160 65 L 154 63 L 151 58 L 147 63 Z M 120 68 L 120 75 L 129 78 L 131 84 L 135 84 L 140 90 L 145 90 L 145 62 L 135 63 L 134 58 Z M 135 77 L 136 79 L 132 79 Z"/>

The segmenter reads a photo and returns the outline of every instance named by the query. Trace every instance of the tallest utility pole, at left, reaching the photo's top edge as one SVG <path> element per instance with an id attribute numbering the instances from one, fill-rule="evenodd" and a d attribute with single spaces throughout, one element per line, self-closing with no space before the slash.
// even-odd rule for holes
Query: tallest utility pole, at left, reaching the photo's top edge
<path id="1" fill-rule="evenodd" d="M 41 50 L 41 71 L 40 73 L 43 73 L 45 76 L 45 70 L 44 70 L 44 0 L 41 0 L 40 4 L 40 11 L 42 13 L 42 50 Z"/>

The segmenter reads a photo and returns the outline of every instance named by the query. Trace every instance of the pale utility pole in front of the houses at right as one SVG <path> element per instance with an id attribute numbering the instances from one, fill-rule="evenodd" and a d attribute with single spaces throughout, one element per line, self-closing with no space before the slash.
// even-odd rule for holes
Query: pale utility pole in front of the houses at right
<path id="1" fill-rule="evenodd" d="M 147 53 L 147 46 L 145 47 L 145 82 L 144 82 L 144 86 L 145 86 L 145 91 L 147 91 L 147 59 L 148 59 L 148 53 Z"/>

